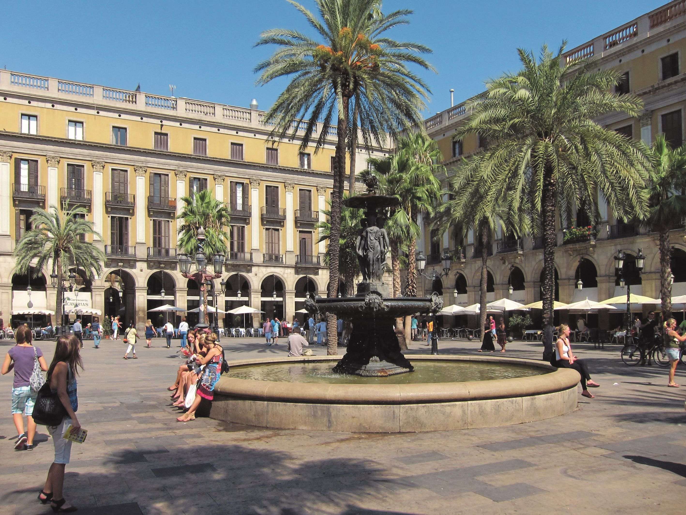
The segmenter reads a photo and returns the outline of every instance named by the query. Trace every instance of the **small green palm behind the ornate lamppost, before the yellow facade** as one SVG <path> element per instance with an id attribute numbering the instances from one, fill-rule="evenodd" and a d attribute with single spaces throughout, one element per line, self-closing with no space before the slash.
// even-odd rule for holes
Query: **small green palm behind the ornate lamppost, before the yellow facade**
<path id="1" fill-rule="evenodd" d="M 214 255 L 225 255 L 228 250 L 228 233 L 224 227 L 228 227 L 229 222 L 226 204 L 214 198 L 210 190 L 193 192 L 190 195 L 182 196 L 180 200 L 184 205 L 176 217 L 182 220 L 182 224 L 178 228 L 179 249 L 183 253 L 195 255 L 198 252 L 198 231 L 202 228 L 205 233 L 202 250 L 207 256 L 208 263 L 211 262 Z M 202 292 L 202 305 L 207 306 L 207 290 L 202 284 L 202 279 L 198 282 Z M 217 316 L 216 313 L 215 316 Z M 205 323 L 207 323 L 206 317 L 207 310 L 204 310 L 202 321 Z"/>

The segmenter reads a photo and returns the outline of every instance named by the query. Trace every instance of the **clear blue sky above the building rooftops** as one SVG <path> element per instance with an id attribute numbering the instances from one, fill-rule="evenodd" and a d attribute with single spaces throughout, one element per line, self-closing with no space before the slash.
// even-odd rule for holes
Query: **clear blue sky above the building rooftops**
<path id="1" fill-rule="evenodd" d="M 314 1 L 303 0 L 312 8 Z M 433 93 L 425 114 L 484 89 L 484 80 L 516 71 L 515 49 L 589 41 L 664 0 L 385 0 L 384 11 L 414 9 L 392 37 L 423 43 L 438 73 L 423 72 Z M 3 4 L 0 67 L 148 93 L 260 108 L 285 81 L 255 86 L 253 69 L 270 54 L 253 48 L 261 31 L 308 30 L 285 0 L 14 1 Z"/>

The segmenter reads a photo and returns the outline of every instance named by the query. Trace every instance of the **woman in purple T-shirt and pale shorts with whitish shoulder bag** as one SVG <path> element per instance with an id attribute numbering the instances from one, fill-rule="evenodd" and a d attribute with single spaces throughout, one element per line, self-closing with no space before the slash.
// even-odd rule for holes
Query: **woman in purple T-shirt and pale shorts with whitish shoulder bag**
<path id="1" fill-rule="evenodd" d="M 15 332 L 16 345 L 12 347 L 5 362 L 2 365 L 3 376 L 14 369 L 14 385 L 12 385 L 12 418 L 19 437 L 14 444 L 14 450 L 32 450 L 34 448 L 34 436 L 36 435 L 36 422 L 34 422 L 34 403 L 37 391 L 33 391 L 29 385 L 31 374 L 34 371 L 34 360 L 38 360 L 40 369 L 47 371 L 47 363 L 43 352 L 31 345 L 32 334 L 27 325 L 21 325 Z M 26 414 L 27 433 L 24 433 L 24 419 Z"/>

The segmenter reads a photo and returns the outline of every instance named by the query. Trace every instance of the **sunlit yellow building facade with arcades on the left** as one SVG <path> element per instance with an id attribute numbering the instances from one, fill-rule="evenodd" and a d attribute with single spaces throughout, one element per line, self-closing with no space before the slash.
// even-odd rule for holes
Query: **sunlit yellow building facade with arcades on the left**
<path id="1" fill-rule="evenodd" d="M 176 216 L 180 198 L 198 190 L 210 190 L 230 211 L 221 278 L 228 291 L 220 291 L 221 279 L 214 286 L 220 309 L 247 304 L 292 320 L 307 291 L 325 295 L 326 244 L 314 226 L 329 207 L 335 127 L 319 152 L 300 152 L 303 127 L 277 143 L 264 115 L 255 100 L 241 108 L 0 70 L 5 325 L 10 317 L 14 325 L 24 321 L 16 312 L 29 301 L 55 309 L 51 271 L 21 277 L 12 258 L 35 209 L 51 206 L 86 207 L 106 254 L 93 282 L 75 271 L 65 308 L 94 308 L 101 321 L 119 314 L 139 328 L 161 304 L 197 308 L 198 285 L 178 272 Z M 357 168 L 368 155 L 358 150 Z"/>

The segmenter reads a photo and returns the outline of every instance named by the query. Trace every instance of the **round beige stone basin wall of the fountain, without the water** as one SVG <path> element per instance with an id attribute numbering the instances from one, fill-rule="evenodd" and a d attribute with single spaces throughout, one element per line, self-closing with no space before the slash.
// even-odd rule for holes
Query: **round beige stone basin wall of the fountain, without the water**
<path id="1" fill-rule="evenodd" d="M 412 361 L 514 363 L 549 373 L 522 378 L 406 385 L 274 382 L 222 376 L 210 417 L 279 429 L 352 433 L 413 433 L 508 426 L 576 409 L 580 376 L 543 361 L 500 356 L 408 356 Z M 259 358 L 229 365 L 330 361 L 342 356 Z M 410 373 L 411 374 L 411 373 Z"/>

